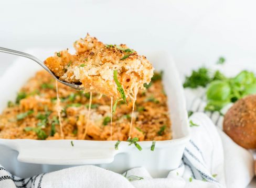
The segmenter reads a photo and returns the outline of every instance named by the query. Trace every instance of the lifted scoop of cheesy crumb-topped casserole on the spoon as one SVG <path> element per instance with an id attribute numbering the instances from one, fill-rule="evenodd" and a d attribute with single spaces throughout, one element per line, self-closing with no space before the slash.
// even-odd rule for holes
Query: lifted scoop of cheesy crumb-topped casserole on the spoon
<path id="1" fill-rule="evenodd" d="M 150 83 L 153 76 L 154 68 L 146 57 L 138 55 L 125 44 L 105 45 L 87 34 L 86 38 L 74 42 L 74 48 L 75 55 L 68 50 L 60 51 L 47 58 L 45 64 L 59 79 L 82 83 L 86 92 L 120 97 L 113 78 L 113 71 L 117 70 L 125 94 L 134 96 L 134 89 L 143 89 L 143 84 Z"/>

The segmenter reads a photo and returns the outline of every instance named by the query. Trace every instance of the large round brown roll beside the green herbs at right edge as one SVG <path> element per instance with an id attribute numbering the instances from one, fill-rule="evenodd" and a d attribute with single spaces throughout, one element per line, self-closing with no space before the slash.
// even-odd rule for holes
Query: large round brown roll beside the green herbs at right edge
<path id="1" fill-rule="evenodd" d="M 238 100 L 228 110 L 223 121 L 223 130 L 238 145 L 256 148 L 256 95 Z"/>

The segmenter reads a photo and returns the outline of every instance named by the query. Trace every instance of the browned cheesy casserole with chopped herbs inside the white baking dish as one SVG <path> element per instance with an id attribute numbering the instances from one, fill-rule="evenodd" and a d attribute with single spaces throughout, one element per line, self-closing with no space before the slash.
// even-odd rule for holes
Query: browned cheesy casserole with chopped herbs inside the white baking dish
<path id="1" fill-rule="evenodd" d="M 71 89 L 58 83 L 59 97 L 61 100 L 61 112 L 63 134 L 65 139 L 81 139 L 86 124 L 89 95 Z M 0 138 L 29 138 L 39 139 L 34 131 L 24 131 L 25 127 L 39 127 L 42 122 L 39 114 L 50 112 L 47 123 L 42 130 L 48 136 L 46 139 L 61 139 L 59 124 L 56 124 L 56 133 L 50 136 L 51 125 L 56 111 L 56 87 L 55 80 L 45 71 L 38 72 L 22 87 L 20 92 L 26 93 L 26 97 L 18 104 L 6 108 L 0 115 Z M 110 98 L 93 93 L 92 109 L 86 139 L 110 140 Z M 129 136 L 132 102 L 128 105 L 119 102 L 116 112 L 113 114 L 112 140 L 126 140 Z M 167 140 L 172 138 L 170 131 L 170 119 L 167 108 L 167 97 L 163 91 L 161 80 L 152 83 L 146 90 L 139 90 L 135 105 L 134 124 L 132 137 L 140 140 Z M 33 110 L 34 112 L 17 120 L 20 113 Z M 104 120 L 108 119 L 108 121 Z M 165 127 L 164 129 L 161 127 Z M 161 131 L 163 130 L 163 131 Z"/>

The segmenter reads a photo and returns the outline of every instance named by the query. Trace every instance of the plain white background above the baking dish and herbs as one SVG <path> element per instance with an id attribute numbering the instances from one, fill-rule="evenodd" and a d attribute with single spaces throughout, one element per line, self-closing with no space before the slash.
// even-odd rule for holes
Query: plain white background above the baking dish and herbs
<path id="1" fill-rule="evenodd" d="M 61 50 L 89 32 L 138 51 L 168 51 L 181 72 L 219 56 L 256 63 L 255 9 L 256 1 L 238 0 L 0 0 L 0 46 Z M 0 74 L 14 58 L 0 53 Z"/>

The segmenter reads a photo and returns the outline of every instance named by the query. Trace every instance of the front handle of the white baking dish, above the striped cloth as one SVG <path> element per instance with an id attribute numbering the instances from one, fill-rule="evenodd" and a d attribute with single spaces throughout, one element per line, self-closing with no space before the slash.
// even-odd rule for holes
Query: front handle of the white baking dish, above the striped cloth
<path id="1" fill-rule="evenodd" d="M 42 149 L 29 148 L 19 151 L 17 157 L 20 162 L 36 163 L 36 164 L 60 164 L 60 165 L 76 165 L 76 164 L 104 164 L 111 163 L 114 160 L 116 151 L 113 150 L 84 150 L 70 149 Z"/>

